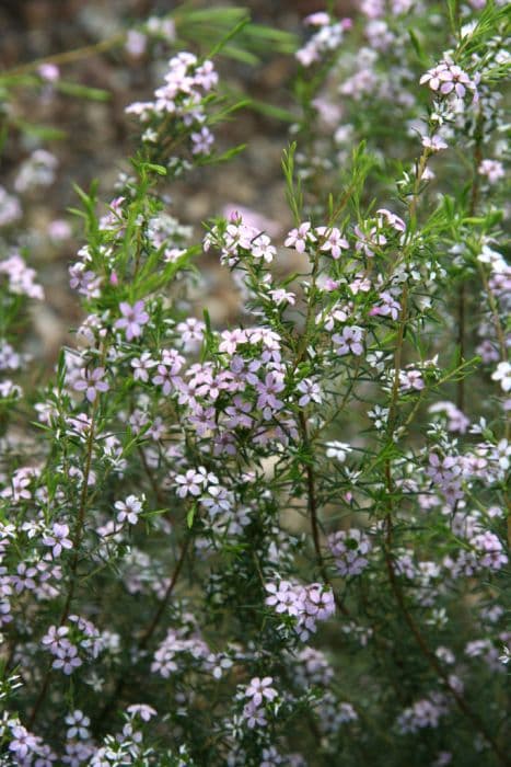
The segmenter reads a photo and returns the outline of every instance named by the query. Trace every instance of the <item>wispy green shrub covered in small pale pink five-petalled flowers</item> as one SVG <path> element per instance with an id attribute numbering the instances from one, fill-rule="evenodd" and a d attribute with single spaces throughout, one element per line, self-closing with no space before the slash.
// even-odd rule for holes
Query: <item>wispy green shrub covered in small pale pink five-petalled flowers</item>
<path id="1" fill-rule="evenodd" d="M 169 213 L 233 153 L 214 56 L 249 35 L 174 50 L 115 198 L 79 191 L 84 319 L 43 386 L 19 195 L 55 158 L 0 188 L 3 765 L 511 764 L 506 9 L 305 26 L 287 233 Z"/>

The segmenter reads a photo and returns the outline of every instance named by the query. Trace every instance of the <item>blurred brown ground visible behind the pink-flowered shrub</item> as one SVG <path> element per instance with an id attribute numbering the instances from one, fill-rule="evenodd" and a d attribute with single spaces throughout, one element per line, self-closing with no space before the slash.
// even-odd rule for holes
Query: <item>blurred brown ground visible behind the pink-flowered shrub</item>
<path id="1" fill-rule="evenodd" d="M 0 90 L 0 96 L 4 96 L 2 126 L 9 128 L 2 130 L 0 185 L 12 193 L 20 168 L 34 150 L 43 148 L 56 158 L 49 183 L 27 188 L 21 195 L 23 236 L 19 244 L 36 267 L 47 299 L 33 309 L 38 336 L 34 339 L 34 352 L 42 360 L 55 360 L 60 345 L 70 339 L 69 329 L 82 317 L 68 284 L 68 266 L 83 244 L 80 224 L 68 213 L 78 203 L 73 183 L 88 190 L 93 180 L 98 180 L 100 198 L 108 203 L 115 196 L 119 172 L 129 172 L 126 158 L 137 145 L 139 126 L 125 114 L 126 106 L 152 94 L 173 53 L 190 48 L 205 54 L 209 49 L 207 24 L 201 30 L 189 28 L 189 41 L 179 39 L 177 28 L 176 41 L 151 45 L 146 50 L 137 49 L 136 39 L 126 45 L 125 41 L 115 43 L 116 38 L 137 30 L 151 16 L 229 4 L 232 5 L 220 0 L 0 1 L 0 67 L 2 75 L 14 77 L 8 95 Z M 254 22 L 288 32 L 298 39 L 303 18 L 324 10 L 325 4 L 317 0 L 252 0 L 245 8 Z M 349 14 L 349 3 L 339 3 L 337 10 Z M 264 108 L 243 108 L 216 131 L 218 151 L 240 144 L 247 144 L 246 149 L 220 168 L 205 168 L 187 175 L 173 187 L 169 199 L 170 213 L 193 226 L 197 238 L 202 234 L 202 220 L 232 207 L 244 206 L 262 214 L 272 222 L 275 234 L 291 224 L 280 160 L 290 140 L 292 112 L 297 110 L 292 99 L 297 66 L 293 55 L 278 47 L 258 50 L 257 64 L 218 60 L 222 87 L 228 92 L 278 106 L 291 116 L 280 118 L 268 115 Z M 58 80 L 53 82 L 49 72 L 43 87 L 25 82 L 24 78 L 42 71 L 38 67 L 46 60 L 58 66 Z M 37 66 L 32 66 L 33 61 Z M 65 88 L 66 83 L 72 87 Z M 106 93 L 83 99 L 81 87 Z M 0 239 L 3 233 L 1 229 Z M 5 248 L 10 244 L 3 241 Z M 211 296 L 208 308 L 213 322 L 232 320 L 239 311 L 239 297 L 225 271 L 212 256 L 201 261 L 201 270 Z"/>

